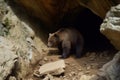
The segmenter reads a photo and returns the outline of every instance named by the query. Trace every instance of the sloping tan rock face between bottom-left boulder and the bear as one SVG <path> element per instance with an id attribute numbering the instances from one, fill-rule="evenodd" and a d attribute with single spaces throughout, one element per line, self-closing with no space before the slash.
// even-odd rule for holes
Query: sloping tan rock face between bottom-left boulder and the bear
<path id="1" fill-rule="evenodd" d="M 44 43 L 39 37 L 35 36 L 34 30 L 28 23 L 21 21 L 10 7 L 7 8 L 8 12 L 3 17 L 2 23 L 10 28 L 7 37 L 5 37 L 11 44 L 8 44 L 9 41 L 2 40 L 4 41 L 2 45 L 6 45 L 6 48 L 14 51 L 19 57 L 16 71 L 14 71 L 17 73 L 15 74 L 16 79 L 24 79 L 26 75 L 32 72 L 32 67 L 42 58 L 41 47 L 44 46 Z"/>

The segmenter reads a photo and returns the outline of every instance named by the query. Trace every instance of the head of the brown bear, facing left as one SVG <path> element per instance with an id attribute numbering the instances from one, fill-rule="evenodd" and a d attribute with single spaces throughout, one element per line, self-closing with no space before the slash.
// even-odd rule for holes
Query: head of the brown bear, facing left
<path id="1" fill-rule="evenodd" d="M 48 47 L 57 47 L 59 44 L 59 36 L 56 33 L 49 33 Z"/>

